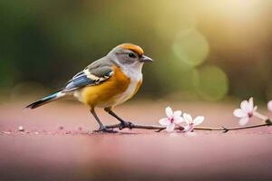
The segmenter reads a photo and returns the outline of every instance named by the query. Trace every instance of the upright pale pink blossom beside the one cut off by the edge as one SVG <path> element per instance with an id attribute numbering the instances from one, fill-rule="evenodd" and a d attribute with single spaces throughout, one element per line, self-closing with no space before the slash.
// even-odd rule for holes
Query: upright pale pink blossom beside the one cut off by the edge
<path id="1" fill-rule="evenodd" d="M 240 119 L 239 124 L 241 126 L 245 126 L 248 120 L 257 113 L 257 106 L 254 106 L 253 98 L 250 98 L 243 100 L 240 107 L 240 109 L 233 111 L 233 115 Z"/>

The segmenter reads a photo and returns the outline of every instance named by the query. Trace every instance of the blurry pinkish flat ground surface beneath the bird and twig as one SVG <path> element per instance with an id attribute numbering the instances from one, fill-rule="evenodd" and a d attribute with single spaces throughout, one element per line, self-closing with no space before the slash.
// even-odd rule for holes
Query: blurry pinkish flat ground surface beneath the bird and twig
<path id="1" fill-rule="evenodd" d="M 0 130 L 11 131 L 0 134 L 0 180 L 272 178 L 272 128 L 226 134 L 197 131 L 193 137 L 150 130 L 83 134 L 96 129 L 97 125 L 81 105 L 53 103 L 32 111 L 23 111 L 23 105 L 0 106 Z M 161 102 L 129 103 L 116 112 L 133 122 L 158 124 L 158 119 L 165 116 L 166 106 L 168 104 Z M 238 126 L 238 119 L 232 116 L 233 106 L 208 103 L 170 106 L 194 116 L 205 116 L 203 126 Z M 98 113 L 104 123 L 116 123 L 102 110 Z M 24 126 L 25 131 L 13 132 L 19 125 Z M 63 130 L 58 130 L 60 126 Z M 79 127 L 83 128 L 81 132 Z M 66 131 L 74 134 L 65 134 Z"/>

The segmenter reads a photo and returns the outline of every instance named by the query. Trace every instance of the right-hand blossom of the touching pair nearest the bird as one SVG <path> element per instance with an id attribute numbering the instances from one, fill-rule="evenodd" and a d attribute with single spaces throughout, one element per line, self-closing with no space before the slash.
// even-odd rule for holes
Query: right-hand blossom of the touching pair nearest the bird
<path id="1" fill-rule="evenodd" d="M 191 132 L 195 126 L 198 126 L 204 121 L 203 116 L 198 116 L 195 119 L 192 119 L 191 116 L 187 113 L 183 114 L 183 119 L 184 119 L 184 125 L 182 127 L 184 128 L 182 131 L 184 132 Z"/>

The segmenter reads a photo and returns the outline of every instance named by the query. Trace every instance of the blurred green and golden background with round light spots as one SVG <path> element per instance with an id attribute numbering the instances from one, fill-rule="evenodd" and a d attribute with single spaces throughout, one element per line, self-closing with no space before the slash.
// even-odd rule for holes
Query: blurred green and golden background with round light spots
<path id="1" fill-rule="evenodd" d="M 272 2 L 267 0 L 2 0 L 1 100 L 63 87 L 120 43 L 156 62 L 140 98 L 272 99 Z"/>

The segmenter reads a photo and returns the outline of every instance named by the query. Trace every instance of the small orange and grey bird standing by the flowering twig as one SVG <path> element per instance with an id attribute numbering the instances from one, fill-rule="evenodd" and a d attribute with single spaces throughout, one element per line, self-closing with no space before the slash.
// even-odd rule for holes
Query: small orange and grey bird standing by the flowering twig
<path id="1" fill-rule="evenodd" d="M 97 107 L 103 108 L 118 119 L 122 128 L 130 128 L 131 122 L 121 119 L 112 111 L 112 108 L 131 99 L 139 90 L 144 62 L 153 62 L 153 60 L 144 55 L 140 46 L 122 43 L 106 56 L 92 62 L 83 71 L 74 75 L 63 89 L 35 101 L 26 108 L 35 109 L 53 100 L 73 96 L 76 100 L 90 106 L 92 116 L 99 124 L 97 131 L 115 132 L 102 124 L 94 110 Z"/>

